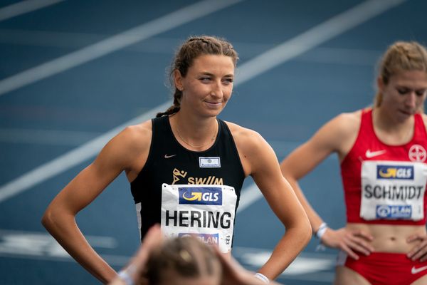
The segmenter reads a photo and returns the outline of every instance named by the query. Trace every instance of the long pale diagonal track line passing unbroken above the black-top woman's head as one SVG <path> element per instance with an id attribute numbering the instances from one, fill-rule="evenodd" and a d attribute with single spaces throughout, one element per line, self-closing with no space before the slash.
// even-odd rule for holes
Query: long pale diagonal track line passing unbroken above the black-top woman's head
<path id="1" fill-rule="evenodd" d="M 14 76 L 0 81 L 0 95 L 41 81 L 49 76 L 67 71 L 75 66 L 80 66 L 88 61 L 105 56 L 113 51 L 130 46 L 150 36 L 169 31 L 172 28 L 189 23 L 215 11 L 224 9 L 243 0 L 205 0 L 176 10 L 146 24 L 136 26 L 116 36 L 106 38 L 65 56 L 48 61 L 40 66 L 30 68 Z"/>

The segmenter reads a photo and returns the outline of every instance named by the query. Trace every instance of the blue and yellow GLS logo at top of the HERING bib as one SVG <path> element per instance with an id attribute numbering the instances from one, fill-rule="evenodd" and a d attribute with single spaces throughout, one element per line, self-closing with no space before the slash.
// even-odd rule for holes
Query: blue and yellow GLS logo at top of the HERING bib
<path id="1" fill-rule="evenodd" d="M 179 187 L 179 204 L 221 205 L 221 187 Z"/>

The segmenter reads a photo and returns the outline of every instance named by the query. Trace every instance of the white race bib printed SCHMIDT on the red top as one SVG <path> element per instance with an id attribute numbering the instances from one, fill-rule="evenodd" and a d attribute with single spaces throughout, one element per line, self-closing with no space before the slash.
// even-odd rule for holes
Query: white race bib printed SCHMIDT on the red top
<path id="1" fill-rule="evenodd" d="M 423 219 L 426 182 L 427 166 L 421 162 L 362 162 L 360 217 Z"/>

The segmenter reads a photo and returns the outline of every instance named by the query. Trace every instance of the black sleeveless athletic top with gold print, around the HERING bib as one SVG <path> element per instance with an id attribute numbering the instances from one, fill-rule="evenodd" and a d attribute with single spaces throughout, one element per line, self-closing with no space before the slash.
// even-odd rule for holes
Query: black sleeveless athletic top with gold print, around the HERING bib
<path id="1" fill-rule="evenodd" d="M 223 120 L 217 120 L 218 135 L 214 145 L 196 152 L 179 144 L 168 116 L 152 119 L 152 142 L 147 162 L 130 183 L 141 239 L 152 225 L 160 223 L 163 183 L 234 187 L 237 209 L 245 174 L 228 126 Z"/>

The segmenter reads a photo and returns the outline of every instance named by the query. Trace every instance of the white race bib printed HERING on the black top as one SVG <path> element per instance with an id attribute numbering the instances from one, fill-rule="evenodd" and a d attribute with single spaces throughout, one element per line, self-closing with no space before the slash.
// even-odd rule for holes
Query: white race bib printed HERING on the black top
<path id="1" fill-rule="evenodd" d="M 231 251 L 237 196 L 226 185 L 162 185 L 165 237 L 193 235 Z"/>

